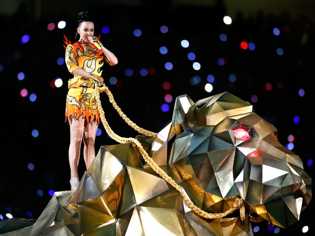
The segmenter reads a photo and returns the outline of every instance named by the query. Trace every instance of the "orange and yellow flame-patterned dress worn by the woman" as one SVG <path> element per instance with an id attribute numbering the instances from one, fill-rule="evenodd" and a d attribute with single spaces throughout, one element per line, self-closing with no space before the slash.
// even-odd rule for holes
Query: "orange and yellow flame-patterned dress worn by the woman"
<path id="1" fill-rule="evenodd" d="M 66 43 L 67 44 L 67 43 Z M 70 73 L 76 68 L 101 76 L 104 61 L 108 63 L 104 52 L 93 44 L 70 42 L 66 46 L 66 64 Z M 73 118 L 86 118 L 87 122 L 96 120 L 100 123 L 100 115 L 94 96 L 94 81 L 89 78 L 74 75 L 68 82 L 66 100 L 66 122 Z M 81 117 L 82 116 L 82 117 Z"/>

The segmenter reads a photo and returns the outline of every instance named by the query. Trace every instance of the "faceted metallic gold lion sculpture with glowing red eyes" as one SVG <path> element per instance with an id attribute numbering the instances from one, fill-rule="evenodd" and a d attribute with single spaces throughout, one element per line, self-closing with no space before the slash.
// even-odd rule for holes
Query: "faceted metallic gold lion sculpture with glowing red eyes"
<path id="1" fill-rule="evenodd" d="M 196 207 L 223 213 L 241 198 L 245 218 L 239 210 L 218 219 L 196 214 L 128 143 L 102 146 L 77 190 L 56 192 L 31 235 L 253 235 L 251 221 L 297 222 L 312 197 L 299 156 L 228 92 L 196 103 L 177 97 L 157 136 L 136 139 Z"/>

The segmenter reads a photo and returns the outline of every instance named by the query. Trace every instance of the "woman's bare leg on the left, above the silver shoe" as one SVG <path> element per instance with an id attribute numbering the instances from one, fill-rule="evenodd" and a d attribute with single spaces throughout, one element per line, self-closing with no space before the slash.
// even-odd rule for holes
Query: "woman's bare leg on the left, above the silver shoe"
<path id="1" fill-rule="evenodd" d="M 69 164 L 71 178 L 78 178 L 78 165 L 80 160 L 80 149 L 84 132 L 84 119 L 73 118 L 70 124 L 70 146 L 69 146 Z"/>

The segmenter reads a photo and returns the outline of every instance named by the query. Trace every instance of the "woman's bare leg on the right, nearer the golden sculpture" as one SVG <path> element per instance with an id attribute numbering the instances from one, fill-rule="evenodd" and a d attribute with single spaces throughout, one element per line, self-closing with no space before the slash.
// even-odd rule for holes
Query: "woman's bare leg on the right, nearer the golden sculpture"
<path id="1" fill-rule="evenodd" d="M 86 170 L 93 162 L 95 158 L 95 137 L 96 132 L 98 131 L 99 124 L 96 121 L 88 122 L 85 121 L 85 130 L 83 136 L 84 142 L 84 149 L 83 149 L 83 156 L 86 165 Z"/>

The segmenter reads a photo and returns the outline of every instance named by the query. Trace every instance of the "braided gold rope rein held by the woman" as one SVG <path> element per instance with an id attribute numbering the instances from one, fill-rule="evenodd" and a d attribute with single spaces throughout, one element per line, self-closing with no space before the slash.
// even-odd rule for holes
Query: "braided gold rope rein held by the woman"
<path id="1" fill-rule="evenodd" d="M 141 134 L 144 134 L 146 136 L 150 136 L 150 137 L 156 137 L 156 133 L 145 130 L 143 128 L 140 128 L 139 126 L 137 126 L 135 123 L 133 123 L 126 115 L 123 114 L 123 112 L 121 111 L 121 109 L 117 106 L 114 97 L 112 95 L 112 93 L 109 91 L 108 87 L 103 85 L 102 87 L 99 87 L 97 85 L 97 83 L 95 83 L 95 89 L 94 89 L 94 93 L 95 93 L 95 97 L 97 100 L 97 104 L 98 104 L 98 108 L 99 108 L 99 112 L 100 112 L 100 117 L 101 117 L 101 121 L 104 125 L 104 128 L 106 130 L 106 132 L 108 133 L 108 135 L 115 141 L 117 141 L 120 144 L 127 144 L 127 143 L 134 143 L 139 151 L 141 152 L 144 160 L 149 164 L 149 166 L 152 168 L 152 170 L 154 172 L 156 172 L 157 174 L 159 174 L 166 182 L 168 182 L 170 185 L 172 185 L 181 195 L 181 197 L 183 198 L 185 204 L 187 205 L 187 207 L 189 207 L 194 213 L 196 213 L 197 215 L 205 218 L 205 219 L 222 219 L 223 217 L 231 214 L 232 212 L 234 212 L 237 209 L 240 209 L 240 218 L 241 220 L 245 219 L 245 207 L 244 207 L 244 203 L 243 203 L 243 199 L 242 198 L 236 198 L 232 208 L 224 213 L 208 213 L 205 212 L 203 210 L 201 210 L 199 207 L 197 207 L 190 198 L 188 198 L 188 196 L 184 193 L 184 191 L 181 189 L 181 187 L 170 177 L 168 176 L 160 167 L 159 165 L 157 165 L 153 159 L 151 157 L 149 157 L 149 155 L 147 154 L 147 152 L 144 150 L 144 148 L 142 147 L 142 144 L 134 138 L 123 138 L 118 136 L 116 133 L 114 133 L 114 131 L 111 129 L 111 127 L 109 126 L 106 118 L 105 118 L 105 113 L 104 110 L 102 108 L 102 104 L 101 104 L 101 100 L 100 100 L 100 92 L 105 91 L 106 94 L 109 97 L 109 101 L 110 103 L 113 105 L 113 107 L 116 109 L 116 111 L 119 113 L 119 115 L 122 117 L 122 119 L 128 123 L 132 128 L 134 128 L 136 131 L 138 131 Z"/>

